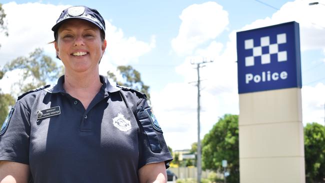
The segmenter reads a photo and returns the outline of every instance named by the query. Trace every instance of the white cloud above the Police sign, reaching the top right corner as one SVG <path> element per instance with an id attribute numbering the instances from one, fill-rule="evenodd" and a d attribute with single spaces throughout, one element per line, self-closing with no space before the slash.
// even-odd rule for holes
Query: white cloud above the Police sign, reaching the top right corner
<path id="1" fill-rule="evenodd" d="M 257 19 L 240 30 L 296 21 L 299 23 L 301 50 L 323 49 L 325 47 L 325 21 L 323 20 L 325 5 L 308 5 L 309 2 L 311 1 L 295 0 L 287 2 L 271 17 Z M 319 2 L 325 3 L 325 1 Z"/>

